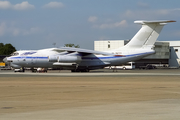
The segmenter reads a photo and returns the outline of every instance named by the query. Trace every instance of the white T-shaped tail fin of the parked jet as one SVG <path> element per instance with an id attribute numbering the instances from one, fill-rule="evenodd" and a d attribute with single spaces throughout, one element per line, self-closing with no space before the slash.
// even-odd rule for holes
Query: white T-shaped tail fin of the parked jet
<path id="1" fill-rule="evenodd" d="M 125 47 L 141 48 L 154 46 L 162 28 L 172 20 L 166 21 L 135 21 L 134 23 L 142 24 L 142 28 L 136 33 L 131 41 Z"/>

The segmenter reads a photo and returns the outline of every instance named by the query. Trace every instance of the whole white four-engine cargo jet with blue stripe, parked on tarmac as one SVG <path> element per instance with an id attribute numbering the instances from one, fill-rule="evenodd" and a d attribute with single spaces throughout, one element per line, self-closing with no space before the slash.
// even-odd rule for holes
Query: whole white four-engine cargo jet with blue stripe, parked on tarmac
<path id="1" fill-rule="evenodd" d="M 13 68 L 61 68 L 72 72 L 89 72 L 106 66 L 117 66 L 154 54 L 154 43 L 162 28 L 173 20 L 135 21 L 141 29 L 123 47 L 111 51 L 94 51 L 80 48 L 50 48 L 22 50 L 6 57 L 4 62 Z"/>

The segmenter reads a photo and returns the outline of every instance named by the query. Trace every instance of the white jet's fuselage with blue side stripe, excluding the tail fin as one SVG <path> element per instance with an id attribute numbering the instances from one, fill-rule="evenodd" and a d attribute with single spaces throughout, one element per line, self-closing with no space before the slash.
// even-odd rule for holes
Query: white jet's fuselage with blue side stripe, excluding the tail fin
<path id="1" fill-rule="evenodd" d="M 11 66 L 14 68 L 62 68 L 62 69 L 98 69 L 106 66 L 117 66 L 123 63 L 134 61 L 145 57 L 147 55 L 153 54 L 154 50 L 134 50 L 134 53 L 128 54 L 126 52 L 119 52 L 121 54 L 113 55 L 81 55 L 79 53 L 61 53 L 57 55 L 57 52 L 46 52 L 44 51 L 20 51 L 18 56 L 10 56 L 7 58 L 7 61 L 10 62 Z M 112 52 L 112 51 L 111 51 Z M 46 53 L 46 54 L 41 54 Z M 113 53 L 113 52 L 112 52 Z M 54 56 L 54 61 L 50 60 L 50 56 Z M 57 57 L 56 57 L 57 56 Z M 76 61 L 75 58 L 79 57 L 80 60 Z M 60 59 L 63 58 L 63 59 Z"/>

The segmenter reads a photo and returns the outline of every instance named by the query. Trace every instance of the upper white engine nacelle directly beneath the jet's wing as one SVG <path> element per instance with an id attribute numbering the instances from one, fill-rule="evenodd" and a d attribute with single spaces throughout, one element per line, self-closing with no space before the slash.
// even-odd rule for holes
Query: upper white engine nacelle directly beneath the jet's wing
<path id="1" fill-rule="evenodd" d="M 57 55 L 57 56 L 49 56 L 48 57 L 49 62 L 64 62 L 64 63 L 70 63 L 70 62 L 81 62 L 81 56 L 76 55 Z"/>

